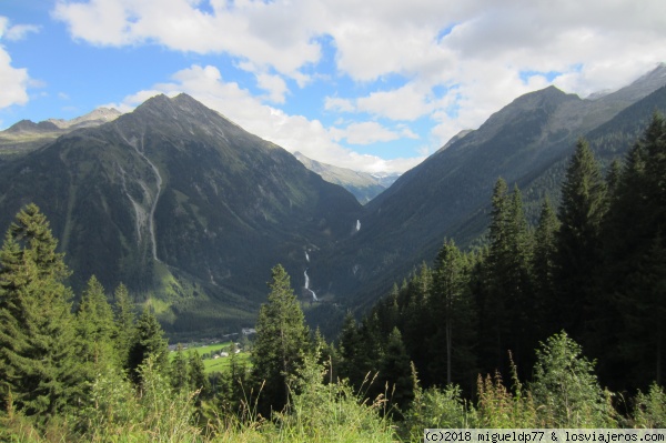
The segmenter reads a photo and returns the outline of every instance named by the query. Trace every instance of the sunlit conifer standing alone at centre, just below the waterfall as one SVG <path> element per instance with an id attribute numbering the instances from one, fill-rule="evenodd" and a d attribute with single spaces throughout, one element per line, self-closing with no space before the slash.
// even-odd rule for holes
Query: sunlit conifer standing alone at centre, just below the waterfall
<path id="1" fill-rule="evenodd" d="M 269 288 L 268 303 L 259 311 L 252 353 L 256 384 L 265 382 L 260 397 L 263 413 L 280 411 L 287 403 L 287 376 L 294 374 L 310 348 L 303 311 L 282 265 L 273 268 Z"/>

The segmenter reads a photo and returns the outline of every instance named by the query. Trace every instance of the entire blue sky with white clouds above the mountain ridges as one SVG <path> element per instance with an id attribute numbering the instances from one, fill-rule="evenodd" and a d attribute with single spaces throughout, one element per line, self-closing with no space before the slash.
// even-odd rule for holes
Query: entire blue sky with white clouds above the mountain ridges
<path id="1" fill-rule="evenodd" d="M 664 0 L 0 0 L 0 129 L 185 92 L 291 152 L 404 172 L 524 93 L 659 62 Z"/>

